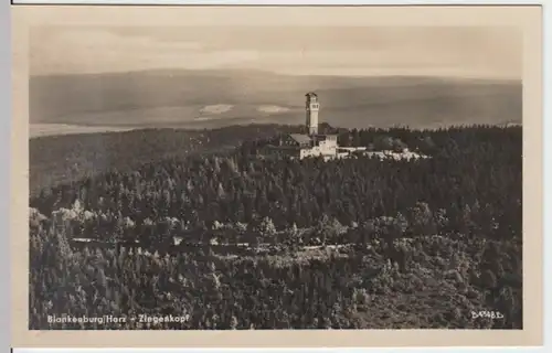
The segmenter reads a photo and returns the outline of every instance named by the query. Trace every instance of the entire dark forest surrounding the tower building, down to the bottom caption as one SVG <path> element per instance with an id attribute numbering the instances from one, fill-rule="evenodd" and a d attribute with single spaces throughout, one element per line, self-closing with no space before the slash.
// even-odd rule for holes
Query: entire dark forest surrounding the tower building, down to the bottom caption
<path id="1" fill-rule="evenodd" d="M 261 158 L 277 126 L 31 140 L 30 328 L 521 329 L 521 128 L 322 129 L 431 158 Z"/>

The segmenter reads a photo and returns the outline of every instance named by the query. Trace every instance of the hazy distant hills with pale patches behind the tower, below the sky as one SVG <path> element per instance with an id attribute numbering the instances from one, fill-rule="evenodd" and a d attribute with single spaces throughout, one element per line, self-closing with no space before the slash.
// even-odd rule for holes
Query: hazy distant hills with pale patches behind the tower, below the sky
<path id="1" fill-rule="evenodd" d="M 150 71 L 33 76 L 30 121 L 118 128 L 302 124 L 308 90 L 320 96 L 321 121 L 347 128 L 522 120 L 520 82 Z"/>

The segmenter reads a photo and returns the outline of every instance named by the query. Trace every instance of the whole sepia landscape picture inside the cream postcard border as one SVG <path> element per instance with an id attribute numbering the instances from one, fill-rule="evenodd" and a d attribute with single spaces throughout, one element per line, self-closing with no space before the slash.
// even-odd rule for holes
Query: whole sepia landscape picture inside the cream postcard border
<path id="1" fill-rule="evenodd" d="M 519 28 L 59 23 L 29 330 L 523 329 Z"/>

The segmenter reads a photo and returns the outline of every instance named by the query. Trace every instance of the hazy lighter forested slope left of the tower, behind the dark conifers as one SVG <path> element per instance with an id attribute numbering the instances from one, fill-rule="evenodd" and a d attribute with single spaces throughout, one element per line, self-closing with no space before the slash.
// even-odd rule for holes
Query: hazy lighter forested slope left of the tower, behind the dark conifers
<path id="1" fill-rule="evenodd" d="M 212 130 L 141 129 L 124 132 L 44 136 L 29 141 L 31 193 L 110 169 L 131 171 L 147 162 L 235 148 L 294 126 L 250 125 Z"/>

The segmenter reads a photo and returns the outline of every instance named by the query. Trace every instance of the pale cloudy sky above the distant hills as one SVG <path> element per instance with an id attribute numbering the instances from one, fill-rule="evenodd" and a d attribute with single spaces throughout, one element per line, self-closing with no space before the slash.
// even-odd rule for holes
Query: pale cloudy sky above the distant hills
<path id="1" fill-rule="evenodd" d="M 522 36 L 497 26 L 34 28 L 30 74 L 263 69 L 289 75 L 521 79 Z"/>

